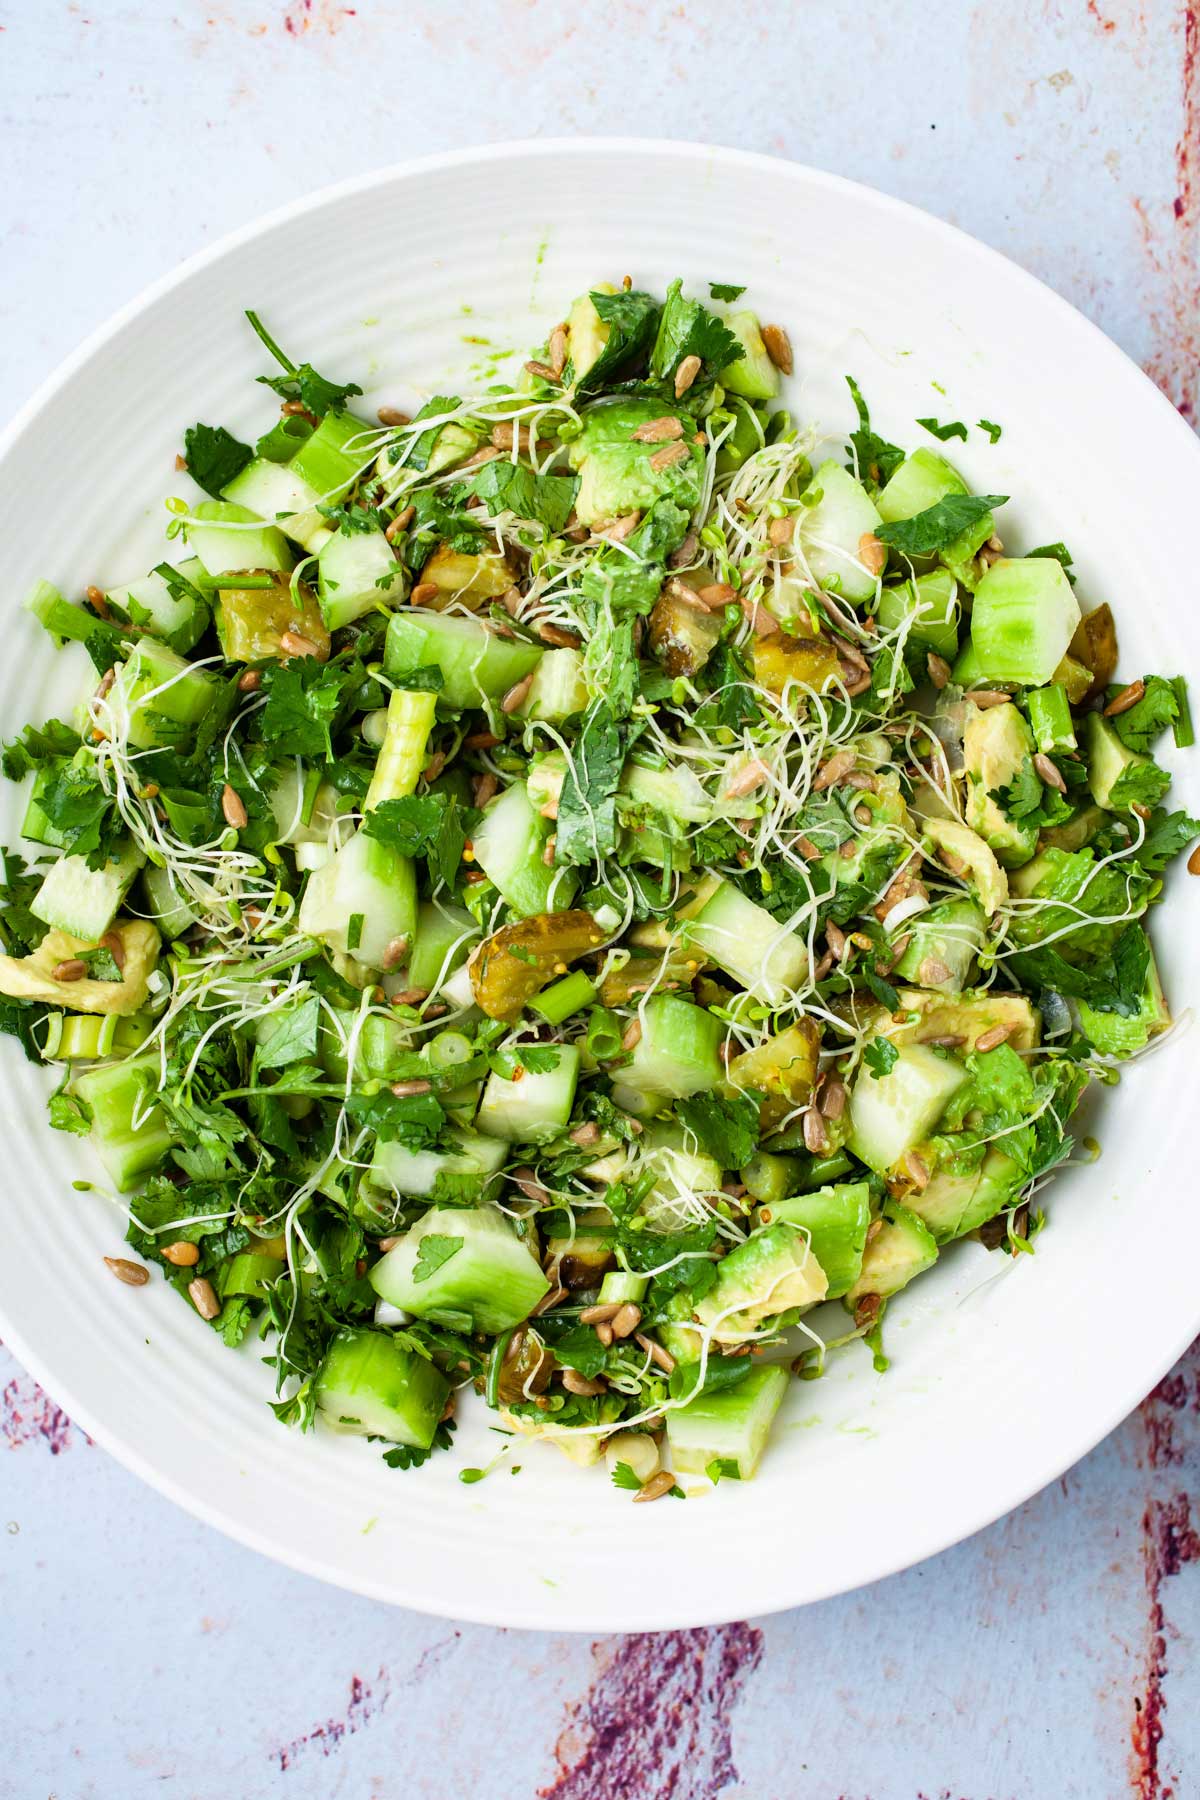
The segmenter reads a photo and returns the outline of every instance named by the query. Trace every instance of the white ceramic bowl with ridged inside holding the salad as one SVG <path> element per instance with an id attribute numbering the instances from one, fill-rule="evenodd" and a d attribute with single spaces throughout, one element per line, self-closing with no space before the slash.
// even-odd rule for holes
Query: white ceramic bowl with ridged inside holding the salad
<path id="1" fill-rule="evenodd" d="M 738 281 L 788 326 L 792 405 L 878 428 L 997 419 L 952 445 L 979 490 L 1011 493 L 1006 542 L 1065 538 L 1079 594 L 1112 601 L 1123 671 L 1200 670 L 1193 526 L 1200 446 L 1151 383 L 1047 288 L 970 238 L 865 187 L 786 162 L 658 142 L 515 144 L 407 164 L 288 207 L 126 308 L 23 410 L 0 450 L 11 637 L 0 724 L 52 711 L 54 653 L 20 610 L 38 576 L 77 592 L 162 554 L 160 499 L 196 418 L 263 428 L 255 306 L 297 358 L 369 401 L 468 391 L 470 364 L 522 351 L 567 301 L 631 272 L 693 292 Z M 480 342 L 484 340 L 484 342 Z M 76 664 L 77 670 L 77 664 Z M 58 677 L 61 680 L 61 673 Z M 77 686 L 77 675 L 74 680 Z M 68 691 L 72 684 L 68 682 Z M 1180 760 L 1177 805 L 1196 776 Z M 5 839 L 18 821 L 4 797 Z M 1173 887 L 1184 887 L 1175 877 Z M 1155 920 L 1168 992 L 1198 990 L 1184 893 Z M 155 1278 L 113 1282 L 122 1219 L 70 1181 L 47 1089 L 0 1044 L 9 1168 L 0 1332 L 67 1411 L 162 1492 L 230 1535 L 362 1593 L 507 1625 L 655 1629 L 768 1613 L 916 1562 L 1024 1501 L 1088 1451 L 1200 1327 L 1189 1042 L 1096 1107 L 1105 1154 L 1054 1183 L 1018 1265 L 950 1251 L 887 1316 L 892 1368 L 856 1346 L 795 1384 L 759 1478 L 630 1510 L 601 1472 L 522 1447 L 518 1476 L 464 1487 L 498 1447 L 482 1424 L 423 1471 L 378 1447 L 275 1426 L 268 1372 L 232 1355 Z"/>

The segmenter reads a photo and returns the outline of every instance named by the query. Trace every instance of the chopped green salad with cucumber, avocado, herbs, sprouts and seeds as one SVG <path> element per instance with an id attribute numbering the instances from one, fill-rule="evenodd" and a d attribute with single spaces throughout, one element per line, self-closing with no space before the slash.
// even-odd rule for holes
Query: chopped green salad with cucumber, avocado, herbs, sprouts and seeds
<path id="1" fill-rule="evenodd" d="M 739 299 L 601 284 L 376 418 L 248 313 L 263 436 L 193 425 L 158 565 L 31 598 L 85 691 L 4 752 L 0 1026 L 113 1274 L 394 1467 L 473 1388 L 502 1458 L 748 1480 L 950 1246 L 1033 1251 L 1171 1024 L 1182 679 L 1006 547 L 945 448 L 1002 425 L 898 446 L 847 378 L 829 437 Z"/>

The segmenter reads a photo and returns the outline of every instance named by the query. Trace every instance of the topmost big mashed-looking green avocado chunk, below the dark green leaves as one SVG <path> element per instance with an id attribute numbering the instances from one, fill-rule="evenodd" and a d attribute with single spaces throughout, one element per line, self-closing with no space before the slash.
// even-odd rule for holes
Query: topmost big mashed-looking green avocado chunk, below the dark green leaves
<path id="1" fill-rule="evenodd" d="M 642 425 L 662 418 L 678 418 L 682 436 L 666 443 L 635 439 Z M 693 436 L 693 421 L 660 400 L 601 400 L 588 407 L 583 432 L 570 446 L 570 464 L 579 472 L 579 524 L 599 526 L 644 513 L 662 499 L 694 511 L 703 484 L 703 450 Z M 675 445 L 685 454 L 667 459 Z"/>

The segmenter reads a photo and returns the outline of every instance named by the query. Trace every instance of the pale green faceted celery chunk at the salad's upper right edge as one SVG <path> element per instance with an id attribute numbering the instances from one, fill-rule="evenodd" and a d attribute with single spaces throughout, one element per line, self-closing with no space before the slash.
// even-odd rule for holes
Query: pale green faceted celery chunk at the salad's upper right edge
<path id="1" fill-rule="evenodd" d="M 972 650 L 982 680 L 1042 688 L 1067 653 L 1079 601 L 1061 563 L 1002 556 L 988 569 L 972 610 Z"/>

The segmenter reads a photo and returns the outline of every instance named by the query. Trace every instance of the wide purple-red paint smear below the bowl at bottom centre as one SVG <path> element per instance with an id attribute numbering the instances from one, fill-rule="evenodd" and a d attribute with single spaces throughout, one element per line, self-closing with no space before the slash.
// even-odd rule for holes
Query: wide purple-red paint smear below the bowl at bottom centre
<path id="1" fill-rule="evenodd" d="M 558 1775 L 538 1795 L 716 1800 L 738 1780 L 730 1715 L 761 1654 L 761 1631 L 745 1624 L 622 1638 L 572 1705 Z"/>

